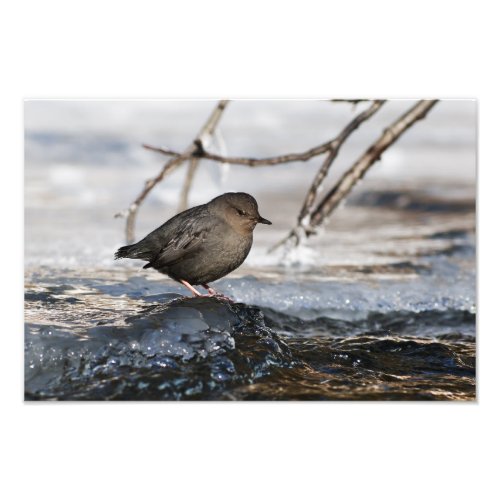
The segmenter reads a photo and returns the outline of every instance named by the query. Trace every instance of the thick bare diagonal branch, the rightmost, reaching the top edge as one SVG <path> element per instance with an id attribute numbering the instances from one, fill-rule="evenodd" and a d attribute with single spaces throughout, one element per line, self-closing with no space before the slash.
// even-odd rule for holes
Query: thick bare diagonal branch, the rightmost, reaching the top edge
<path id="1" fill-rule="evenodd" d="M 318 227 L 333 212 L 339 203 L 351 192 L 352 188 L 365 175 L 367 170 L 382 156 L 382 153 L 394 144 L 403 133 L 418 120 L 425 118 L 427 113 L 437 104 L 438 100 L 422 100 L 412 106 L 404 115 L 386 128 L 382 135 L 340 178 L 337 184 L 324 196 L 311 215 L 310 225 Z"/>

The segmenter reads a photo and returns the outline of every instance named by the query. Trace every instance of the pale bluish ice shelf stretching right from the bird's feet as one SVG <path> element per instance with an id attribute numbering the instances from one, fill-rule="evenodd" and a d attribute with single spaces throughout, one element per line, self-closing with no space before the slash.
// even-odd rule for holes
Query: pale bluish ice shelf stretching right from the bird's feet
<path id="1" fill-rule="evenodd" d="M 294 314 L 306 319 L 366 317 L 370 312 L 449 309 L 475 312 L 475 272 L 447 259 L 427 259 L 420 274 L 357 275 L 350 279 L 307 277 L 274 283 L 245 277 L 221 282 L 220 289 L 237 300 Z M 431 271 L 432 270 L 432 271 Z M 223 283 L 223 284 L 222 284 Z"/>

